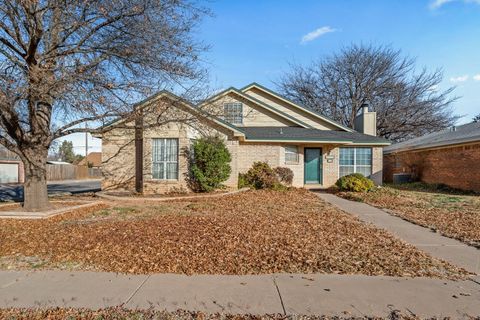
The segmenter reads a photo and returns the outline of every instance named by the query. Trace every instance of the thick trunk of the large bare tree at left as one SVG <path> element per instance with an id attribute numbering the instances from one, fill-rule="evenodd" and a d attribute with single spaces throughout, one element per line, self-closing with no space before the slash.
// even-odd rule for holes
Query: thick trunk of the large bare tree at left
<path id="1" fill-rule="evenodd" d="M 23 159 L 25 166 L 23 208 L 26 211 L 43 211 L 50 208 L 47 193 L 47 153 L 48 149 L 45 149 Z"/>

